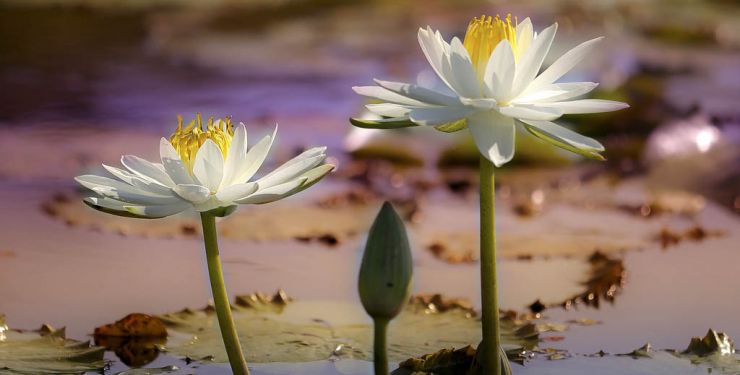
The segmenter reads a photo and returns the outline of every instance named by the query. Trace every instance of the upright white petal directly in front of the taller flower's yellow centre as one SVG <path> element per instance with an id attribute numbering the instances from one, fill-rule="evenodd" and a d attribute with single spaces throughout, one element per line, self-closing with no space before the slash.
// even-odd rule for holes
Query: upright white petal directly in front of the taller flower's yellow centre
<path id="1" fill-rule="evenodd" d="M 483 74 L 483 83 L 488 96 L 506 101 L 511 96 L 516 63 L 508 40 L 500 42 L 491 53 Z"/>

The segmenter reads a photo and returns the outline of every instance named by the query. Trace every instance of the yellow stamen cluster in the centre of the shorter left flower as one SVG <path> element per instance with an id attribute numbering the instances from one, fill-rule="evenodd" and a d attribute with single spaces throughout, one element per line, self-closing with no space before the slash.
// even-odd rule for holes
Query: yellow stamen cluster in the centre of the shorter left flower
<path id="1" fill-rule="evenodd" d="M 182 125 L 182 116 L 177 116 L 177 129 L 170 136 L 170 143 L 192 172 L 195 154 L 207 139 L 212 140 L 226 158 L 233 136 L 234 127 L 231 125 L 231 118 L 225 117 L 223 120 L 214 121 L 213 117 L 210 117 L 206 129 L 203 130 L 200 113 L 198 113 L 195 119 L 185 127 Z"/>

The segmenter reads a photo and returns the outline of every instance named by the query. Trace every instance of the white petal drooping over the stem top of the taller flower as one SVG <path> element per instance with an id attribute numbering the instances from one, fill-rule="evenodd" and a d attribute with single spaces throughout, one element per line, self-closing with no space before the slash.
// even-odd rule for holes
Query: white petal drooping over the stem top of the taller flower
<path id="1" fill-rule="evenodd" d="M 478 151 L 500 167 L 514 157 L 514 120 L 494 111 L 478 112 L 468 117 L 468 128 Z"/>

